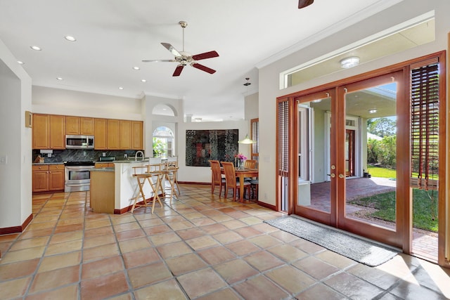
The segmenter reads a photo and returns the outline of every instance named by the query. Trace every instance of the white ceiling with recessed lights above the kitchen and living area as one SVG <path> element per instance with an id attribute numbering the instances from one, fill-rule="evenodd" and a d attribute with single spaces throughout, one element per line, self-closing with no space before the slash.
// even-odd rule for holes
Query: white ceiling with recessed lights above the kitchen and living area
<path id="1" fill-rule="evenodd" d="M 297 0 L 0 0 L 0 40 L 25 63 L 36 86 L 182 98 L 185 115 L 193 119 L 243 119 L 245 94 L 258 90 L 256 65 L 399 1 L 346 0 L 344 6 L 316 0 L 299 10 Z M 173 59 L 161 42 L 183 50 L 181 20 L 188 22 L 185 51 L 217 51 L 218 58 L 199 61 L 216 73 L 185 67 L 172 77 L 176 63 L 141 62 Z M 245 77 L 252 83 L 248 90 Z"/>

